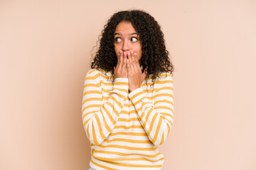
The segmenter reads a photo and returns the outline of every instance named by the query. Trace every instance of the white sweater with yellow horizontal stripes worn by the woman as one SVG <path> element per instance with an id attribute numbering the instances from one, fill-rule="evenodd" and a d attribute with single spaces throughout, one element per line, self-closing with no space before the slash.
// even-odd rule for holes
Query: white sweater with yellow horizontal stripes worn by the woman
<path id="1" fill-rule="evenodd" d="M 82 96 L 82 123 L 91 143 L 94 169 L 161 169 L 164 143 L 174 121 L 174 83 L 160 74 L 129 92 L 127 78 L 90 69 Z M 151 86 L 153 85 L 153 86 Z"/>

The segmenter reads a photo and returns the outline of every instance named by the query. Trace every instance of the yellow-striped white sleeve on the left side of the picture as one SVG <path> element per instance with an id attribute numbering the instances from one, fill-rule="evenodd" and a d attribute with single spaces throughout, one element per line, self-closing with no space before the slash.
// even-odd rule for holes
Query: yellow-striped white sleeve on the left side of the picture
<path id="1" fill-rule="evenodd" d="M 128 79 L 116 78 L 109 98 L 103 103 L 101 84 L 100 71 L 91 69 L 85 77 L 82 96 L 82 123 L 87 138 L 95 145 L 100 145 L 114 129 L 128 95 Z"/>

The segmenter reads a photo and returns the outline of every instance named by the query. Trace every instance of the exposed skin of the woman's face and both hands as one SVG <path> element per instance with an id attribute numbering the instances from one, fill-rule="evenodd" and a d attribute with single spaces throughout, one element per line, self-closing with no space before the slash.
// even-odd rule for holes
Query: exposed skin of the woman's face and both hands
<path id="1" fill-rule="evenodd" d="M 128 78 L 129 91 L 138 89 L 146 78 L 146 69 L 142 73 L 139 60 L 142 58 L 142 44 L 132 23 L 121 22 L 114 31 L 114 51 L 117 66 L 114 67 L 114 79 Z"/>

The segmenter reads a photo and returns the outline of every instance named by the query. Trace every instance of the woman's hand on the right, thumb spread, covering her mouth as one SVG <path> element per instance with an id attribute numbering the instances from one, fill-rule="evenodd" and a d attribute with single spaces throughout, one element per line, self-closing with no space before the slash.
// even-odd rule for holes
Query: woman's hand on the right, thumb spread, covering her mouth
<path id="1" fill-rule="evenodd" d="M 136 52 L 128 52 L 127 73 L 129 81 L 129 91 L 134 91 L 135 89 L 138 89 L 146 78 L 146 69 L 142 74 L 142 69 L 139 66 L 139 60 Z"/>

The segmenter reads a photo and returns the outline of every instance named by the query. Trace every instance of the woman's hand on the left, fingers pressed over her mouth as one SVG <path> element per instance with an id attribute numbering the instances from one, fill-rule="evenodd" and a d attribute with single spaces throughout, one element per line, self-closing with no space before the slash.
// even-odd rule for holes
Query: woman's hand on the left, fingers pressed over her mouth
<path id="1" fill-rule="evenodd" d="M 114 79 L 127 78 L 127 52 L 120 50 L 117 56 L 117 67 L 114 67 Z"/>

